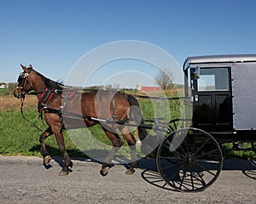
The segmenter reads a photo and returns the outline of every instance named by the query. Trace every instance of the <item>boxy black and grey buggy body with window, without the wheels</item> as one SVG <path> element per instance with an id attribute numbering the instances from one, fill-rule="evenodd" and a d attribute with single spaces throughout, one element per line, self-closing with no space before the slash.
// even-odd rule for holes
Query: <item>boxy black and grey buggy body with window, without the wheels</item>
<path id="1" fill-rule="evenodd" d="M 193 127 L 219 142 L 256 140 L 256 54 L 188 57 L 183 71 Z"/>

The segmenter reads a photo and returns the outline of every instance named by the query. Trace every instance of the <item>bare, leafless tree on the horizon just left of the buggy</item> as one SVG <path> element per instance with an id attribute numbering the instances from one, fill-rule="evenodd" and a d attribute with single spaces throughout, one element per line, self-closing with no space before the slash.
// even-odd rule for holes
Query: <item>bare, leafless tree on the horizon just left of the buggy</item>
<path id="1" fill-rule="evenodd" d="M 173 74 L 170 70 L 164 69 L 160 70 L 156 77 L 154 77 L 155 82 L 160 85 L 160 88 L 166 90 L 173 80 Z"/>

